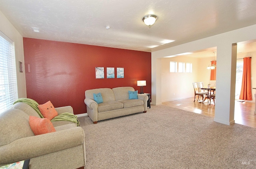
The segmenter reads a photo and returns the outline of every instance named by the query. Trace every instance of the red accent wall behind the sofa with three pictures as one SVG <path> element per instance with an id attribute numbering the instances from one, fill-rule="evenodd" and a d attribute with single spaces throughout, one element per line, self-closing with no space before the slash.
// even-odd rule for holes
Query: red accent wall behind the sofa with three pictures
<path id="1" fill-rule="evenodd" d="M 74 114 L 86 112 L 84 91 L 93 88 L 132 86 L 146 80 L 144 92 L 151 93 L 151 53 L 23 38 L 27 97 L 54 107 L 72 106 Z M 30 72 L 28 70 L 30 66 Z M 95 67 L 104 67 L 104 79 L 96 79 Z M 115 78 L 106 78 L 106 67 L 115 68 Z M 124 78 L 116 78 L 116 68 Z"/>

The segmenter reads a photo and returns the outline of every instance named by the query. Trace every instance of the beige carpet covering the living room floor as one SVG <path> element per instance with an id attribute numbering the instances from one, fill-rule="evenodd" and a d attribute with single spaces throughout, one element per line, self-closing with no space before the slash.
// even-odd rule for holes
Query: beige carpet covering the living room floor
<path id="1" fill-rule="evenodd" d="M 85 132 L 85 169 L 256 168 L 256 128 L 164 105 L 92 124 Z"/>

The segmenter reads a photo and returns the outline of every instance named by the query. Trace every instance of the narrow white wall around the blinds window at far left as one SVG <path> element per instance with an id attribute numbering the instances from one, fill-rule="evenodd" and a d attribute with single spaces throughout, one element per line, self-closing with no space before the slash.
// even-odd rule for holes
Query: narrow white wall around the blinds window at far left
<path id="1" fill-rule="evenodd" d="M 24 50 L 23 50 L 23 37 L 14 28 L 14 26 L 9 22 L 9 20 L 0 11 L 0 31 L 14 41 L 15 46 L 15 57 L 16 57 L 16 70 L 17 70 L 17 83 L 18 83 L 18 97 L 26 98 L 26 78 L 25 78 L 25 68 L 24 68 Z M 19 72 L 18 61 L 23 63 L 23 73 Z"/>

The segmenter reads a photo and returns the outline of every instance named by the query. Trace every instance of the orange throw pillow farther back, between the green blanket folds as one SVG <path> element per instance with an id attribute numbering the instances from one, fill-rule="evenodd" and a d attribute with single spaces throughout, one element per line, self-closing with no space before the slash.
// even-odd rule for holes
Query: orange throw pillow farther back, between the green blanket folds
<path id="1" fill-rule="evenodd" d="M 58 116 L 58 112 L 55 110 L 54 106 L 50 101 L 44 104 L 39 104 L 38 108 L 41 114 L 44 116 L 44 118 L 52 120 L 54 117 Z"/>

